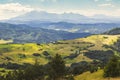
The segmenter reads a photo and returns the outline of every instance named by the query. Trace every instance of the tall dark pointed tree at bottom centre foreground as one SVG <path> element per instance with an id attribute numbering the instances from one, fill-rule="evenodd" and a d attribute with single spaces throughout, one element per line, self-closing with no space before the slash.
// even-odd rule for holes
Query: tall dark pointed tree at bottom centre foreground
<path id="1" fill-rule="evenodd" d="M 66 75 L 65 62 L 59 54 L 49 62 L 49 80 L 62 80 Z"/>

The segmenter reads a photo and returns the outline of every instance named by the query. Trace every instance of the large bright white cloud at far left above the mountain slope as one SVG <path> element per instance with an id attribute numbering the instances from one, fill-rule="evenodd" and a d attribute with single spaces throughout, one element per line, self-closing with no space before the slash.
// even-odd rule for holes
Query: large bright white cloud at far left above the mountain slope
<path id="1" fill-rule="evenodd" d="M 0 4 L 0 20 L 9 19 L 33 10 L 30 6 L 19 3 Z"/>

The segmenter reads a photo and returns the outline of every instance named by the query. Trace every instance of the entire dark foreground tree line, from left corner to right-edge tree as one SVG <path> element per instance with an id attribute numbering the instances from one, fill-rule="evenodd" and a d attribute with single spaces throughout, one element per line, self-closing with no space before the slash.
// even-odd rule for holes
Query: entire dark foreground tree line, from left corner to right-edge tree
<path id="1" fill-rule="evenodd" d="M 74 80 L 75 75 L 83 72 L 95 72 L 102 63 L 93 62 L 73 63 L 70 67 L 65 65 L 64 59 L 56 54 L 46 65 L 40 65 L 36 60 L 34 65 L 9 71 L 6 75 L 0 76 L 0 80 Z M 104 69 L 104 77 L 120 77 L 120 58 L 113 56 Z"/>

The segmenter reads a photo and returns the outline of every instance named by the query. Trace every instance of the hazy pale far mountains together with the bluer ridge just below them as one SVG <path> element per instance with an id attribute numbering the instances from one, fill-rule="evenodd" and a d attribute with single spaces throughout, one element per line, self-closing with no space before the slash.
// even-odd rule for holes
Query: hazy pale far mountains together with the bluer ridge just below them
<path id="1" fill-rule="evenodd" d="M 92 17 L 75 13 L 48 13 L 45 11 L 31 11 L 24 15 L 2 22 L 12 24 L 26 24 L 32 27 L 67 31 L 74 33 L 104 33 L 113 28 L 120 27 L 120 18 L 105 15 Z"/>

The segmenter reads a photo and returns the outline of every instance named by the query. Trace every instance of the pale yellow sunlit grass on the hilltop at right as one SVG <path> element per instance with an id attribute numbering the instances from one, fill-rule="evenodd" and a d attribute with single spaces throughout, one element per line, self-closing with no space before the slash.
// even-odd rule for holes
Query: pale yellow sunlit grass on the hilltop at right
<path id="1" fill-rule="evenodd" d="M 120 35 L 92 35 L 80 40 L 95 44 L 90 50 L 106 50 L 103 48 L 103 45 L 112 45 L 119 39 L 119 37 Z"/>

